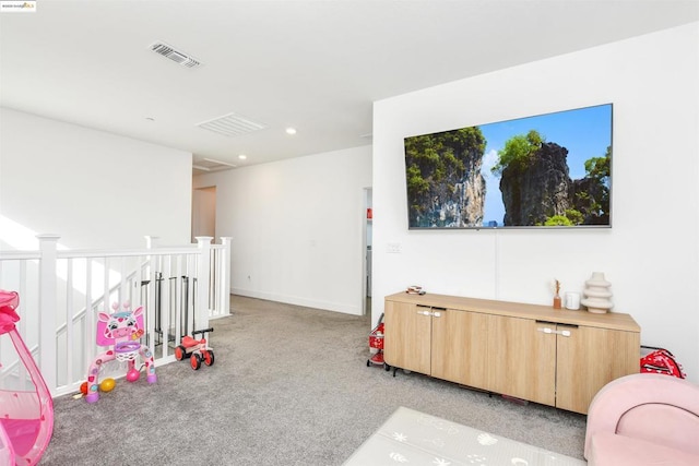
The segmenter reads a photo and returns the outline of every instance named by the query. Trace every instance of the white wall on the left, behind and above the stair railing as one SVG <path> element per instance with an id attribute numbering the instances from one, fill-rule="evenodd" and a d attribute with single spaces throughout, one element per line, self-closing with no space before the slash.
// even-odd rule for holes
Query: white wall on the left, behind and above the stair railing
<path id="1" fill-rule="evenodd" d="M 0 248 L 189 242 L 190 153 L 0 109 Z"/>

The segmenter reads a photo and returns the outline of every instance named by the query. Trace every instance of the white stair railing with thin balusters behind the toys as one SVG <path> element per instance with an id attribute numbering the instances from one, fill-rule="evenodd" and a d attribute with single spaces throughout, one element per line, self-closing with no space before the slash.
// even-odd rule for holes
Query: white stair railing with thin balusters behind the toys
<path id="1" fill-rule="evenodd" d="M 52 396 L 80 389 L 90 362 L 104 351 L 96 345 L 97 313 L 110 312 L 114 302 L 144 307 L 141 340 L 156 368 L 175 360 L 182 335 L 230 313 L 230 238 L 155 247 L 146 237 L 142 250 L 90 251 L 60 249 L 58 236 L 38 238 L 38 251 L 0 251 L 0 289 L 20 294 L 19 332 Z M 0 342 L 0 389 L 29 383 L 12 348 Z"/>

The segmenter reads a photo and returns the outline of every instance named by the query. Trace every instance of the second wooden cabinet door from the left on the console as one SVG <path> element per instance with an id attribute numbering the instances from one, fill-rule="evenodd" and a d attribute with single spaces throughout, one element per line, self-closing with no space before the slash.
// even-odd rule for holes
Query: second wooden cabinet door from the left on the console
<path id="1" fill-rule="evenodd" d="M 483 389 L 489 315 L 433 308 L 431 375 Z"/>

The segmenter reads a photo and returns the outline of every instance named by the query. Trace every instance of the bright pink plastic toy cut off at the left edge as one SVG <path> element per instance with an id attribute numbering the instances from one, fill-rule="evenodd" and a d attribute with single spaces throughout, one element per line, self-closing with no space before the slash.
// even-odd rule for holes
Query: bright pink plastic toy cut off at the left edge
<path id="1" fill-rule="evenodd" d="M 35 465 L 51 440 L 54 401 L 32 354 L 14 325 L 20 297 L 0 289 L 0 336 L 8 334 L 34 390 L 0 390 L 0 464 Z"/>

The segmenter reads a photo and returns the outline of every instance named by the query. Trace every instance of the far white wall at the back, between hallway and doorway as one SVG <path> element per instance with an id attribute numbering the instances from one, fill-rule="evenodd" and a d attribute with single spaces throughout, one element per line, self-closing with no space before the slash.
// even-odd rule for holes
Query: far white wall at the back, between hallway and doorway
<path id="1" fill-rule="evenodd" d="M 370 146 L 206 174 L 193 183 L 216 187 L 216 235 L 233 237 L 232 292 L 363 312 Z"/>

